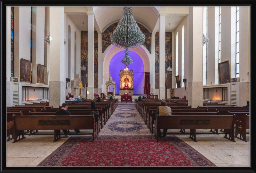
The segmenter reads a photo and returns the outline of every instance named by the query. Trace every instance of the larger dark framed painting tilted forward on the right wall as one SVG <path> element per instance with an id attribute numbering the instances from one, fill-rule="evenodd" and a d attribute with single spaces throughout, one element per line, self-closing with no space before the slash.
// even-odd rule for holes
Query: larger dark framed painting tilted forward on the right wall
<path id="1" fill-rule="evenodd" d="M 229 61 L 218 63 L 220 84 L 231 83 Z"/>

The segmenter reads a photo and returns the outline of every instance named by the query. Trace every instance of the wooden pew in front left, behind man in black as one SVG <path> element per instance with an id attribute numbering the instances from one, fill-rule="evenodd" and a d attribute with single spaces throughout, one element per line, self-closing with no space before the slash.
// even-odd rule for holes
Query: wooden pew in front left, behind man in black
<path id="1" fill-rule="evenodd" d="M 25 139 L 25 129 L 42 129 L 42 130 L 54 130 L 53 142 L 60 139 L 61 129 L 89 129 L 92 133 L 78 133 L 68 135 L 85 135 L 92 134 L 92 141 L 94 142 L 97 138 L 97 123 L 94 122 L 94 115 L 63 115 L 63 116 L 15 116 L 14 117 L 14 142 Z M 22 138 L 20 138 L 20 135 Z M 40 134 L 33 134 L 40 135 Z M 42 134 L 41 134 L 42 135 Z M 19 140 L 17 138 L 19 137 Z"/>

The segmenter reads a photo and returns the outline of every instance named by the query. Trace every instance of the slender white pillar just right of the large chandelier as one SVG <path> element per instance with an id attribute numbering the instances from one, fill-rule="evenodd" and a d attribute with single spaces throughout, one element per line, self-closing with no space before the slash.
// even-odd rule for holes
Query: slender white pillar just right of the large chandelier
<path id="1" fill-rule="evenodd" d="M 159 100 L 165 99 L 165 16 L 159 14 Z"/>

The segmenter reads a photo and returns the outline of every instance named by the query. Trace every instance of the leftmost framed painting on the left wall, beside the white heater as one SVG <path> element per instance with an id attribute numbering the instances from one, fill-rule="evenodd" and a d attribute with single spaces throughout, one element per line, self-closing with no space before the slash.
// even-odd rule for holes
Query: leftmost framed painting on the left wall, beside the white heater
<path id="1" fill-rule="evenodd" d="M 32 62 L 21 58 L 20 81 L 31 83 Z"/>

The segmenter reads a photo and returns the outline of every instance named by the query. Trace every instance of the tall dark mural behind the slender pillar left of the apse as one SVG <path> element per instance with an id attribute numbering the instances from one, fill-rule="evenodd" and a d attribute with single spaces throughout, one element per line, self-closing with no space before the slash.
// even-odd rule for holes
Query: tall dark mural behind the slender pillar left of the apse
<path id="1" fill-rule="evenodd" d="M 84 33 L 83 33 L 84 32 Z M 86 84 L 88 79 L 88 32 L 81 31 L 81 81 Z M 98 33 L 94 31 L 94 88 L 98 88 Z"/>

